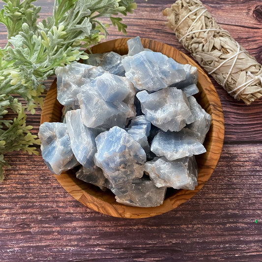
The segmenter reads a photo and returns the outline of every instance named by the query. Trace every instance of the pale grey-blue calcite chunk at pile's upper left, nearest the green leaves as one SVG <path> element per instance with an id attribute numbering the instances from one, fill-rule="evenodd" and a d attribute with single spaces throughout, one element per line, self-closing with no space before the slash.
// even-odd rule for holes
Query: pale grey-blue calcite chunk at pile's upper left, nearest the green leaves
<path id="1" fill-rule="evenodd" d="M 77 101 L 77 94 L 81 86 L 90 83 L 97 76 L 105 73 L 102 67 L 94 67 L 78 62 L 71 63 L 65 67 L 57 67 L 58 101 L 61 105 L 70 106 Z"/>

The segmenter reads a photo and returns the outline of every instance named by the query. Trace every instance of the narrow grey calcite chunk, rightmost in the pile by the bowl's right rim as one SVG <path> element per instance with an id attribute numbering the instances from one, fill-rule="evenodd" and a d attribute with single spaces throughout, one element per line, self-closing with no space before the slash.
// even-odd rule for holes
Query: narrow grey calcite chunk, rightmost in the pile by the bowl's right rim
<path id="1" fill-rule="evenodd" d="M 211 125 L 211 116 L 204 111 L 194 96 L 188 97 L 191 112 L 196 120 L 188 125 L 188 128 L 197 132 L 200 136 L 200 142 L 204 143 L 205 136 Z"/>

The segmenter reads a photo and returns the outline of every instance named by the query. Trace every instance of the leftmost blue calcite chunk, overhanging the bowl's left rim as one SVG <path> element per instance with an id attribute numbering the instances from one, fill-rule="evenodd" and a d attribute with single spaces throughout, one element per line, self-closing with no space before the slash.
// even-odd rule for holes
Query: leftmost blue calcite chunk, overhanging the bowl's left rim
<path id="1" fill-rule="evenodd" d="M 72 169 L 77 162 L 70 145 L 66 124 L 44 122 L 39 127 L 42 157 L 56 175 Z"/>

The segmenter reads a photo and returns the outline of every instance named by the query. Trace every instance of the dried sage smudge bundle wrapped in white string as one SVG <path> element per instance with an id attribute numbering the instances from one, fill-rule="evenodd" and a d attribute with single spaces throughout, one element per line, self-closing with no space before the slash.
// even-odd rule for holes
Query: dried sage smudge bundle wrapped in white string
<path id="1" fill-rule="evenodd" d="M 250 105 L 262 96 L 262 65 L 218 25 L 200 0 L 177 0 L 163 15 L 183 47 L 235 99 Z"/>

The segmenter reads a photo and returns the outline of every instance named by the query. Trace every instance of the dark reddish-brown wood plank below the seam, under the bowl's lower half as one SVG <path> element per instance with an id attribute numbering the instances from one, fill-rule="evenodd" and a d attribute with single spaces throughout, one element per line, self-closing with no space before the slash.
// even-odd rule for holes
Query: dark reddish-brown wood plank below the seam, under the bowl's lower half
<path id="1" fill-rule="evenodd" d="M 261 261 L 262 145 L 224 146 L 191 200 L 131 220 L 88 209 L 40 156 L 17 156 L 0 187 L 0 261 Z"/>

